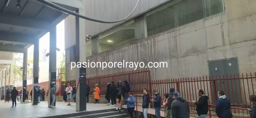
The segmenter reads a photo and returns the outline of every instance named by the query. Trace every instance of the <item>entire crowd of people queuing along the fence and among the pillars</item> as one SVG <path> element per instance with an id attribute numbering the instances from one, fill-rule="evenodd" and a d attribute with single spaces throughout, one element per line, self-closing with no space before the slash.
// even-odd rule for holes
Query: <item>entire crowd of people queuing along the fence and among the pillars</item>
<path id="1" fill-rule="evenodd" d="M 39 86 L 39 94 L 38 94 L 38 103 L 39 101 L 45 101 L 45 90 L 40 89 Z M 50 90 L 52 94 L 52 100 L 55 101 L 56 98 L 56 85 L 53 86 Z M 86 85 L 86 98 L 87 103 L 89 103 L 89 92 L 90 87 L 89 85 Z M 6 97 L 5 102 L 10 101 L 10 98 L 12 100 L 12 106 L 16 107 L 16 102 L 20 102 L 21 96 L 24 95 L 25 100 L 28 99 L 29 92 L 27 91 L 27 88 L 25 91 L 22 92 L 19 89 L 16 90 L 16 87 L 13 87 L 13 90 L 10 91 L 8 89 L 6 91 Z M 164 107 L 164 117 L 165 118 L 189 118 L 189 103 L 183 99 L 180 96 L 179 92 L 175 92 L 174 88 L 169 89 L 169 93 L 164 94 L 164 102 L 161 106 L 161 95 L 158 93 L 157 90 L 153 91 L 153 94 L 155 95 L 154 99 L 151 99 L 151 95 L 148 93 L 147 89 L 143 89 L 143 97 L 142 97 L 142 112 L 144 115 L 144 118 L 147 118 L 148 116 L 148 108 L 149 104 L 153 102 L 155 113 L 157 115 L 157 118 L 161 118 L 161 107 Z M 32 96 L 32 91 L 30 92 L 30 95 Z M 70 84 L 67 84 L 65 86 L 65 92 L 63 95 L 64 102 L 68 102 L 67 106 L 71 105 L 71 95 L 73 95 L 74 102 L 76 102 L 76 85 L 73 85 L 73 87 L 70 86 Z M 98 84 L 95 85 L 95 88 L 93 89 L 93 95 L 95 99 L 95 104 L 99 103 L 100 99 L 100 88 L 98 87 Z M 208 96 L 204 93 L 204 90 L 199 89 L 198 95 L 200 96 L 198 101 L 192 101 L 193 104 L 196 105 L 196 111 L 200 118 L 206 118 L 208 114 Z M 107 88 L 106 88 L 106 95 L 105 98 L 108 100 L 108 105 L 116 107 L 115 111 L 121 111 L 122 108 L 122 100 L 124 98 L 124 105 L 123 107 L 127 107 L 128 113 L 130 114 L 130 117 L 133 118 L 133 112 L 135 108 L 135 98 L 133 96 L 133 93 L 130 92 L 130 83 L 127 82 L 127 80 L 118 81 L 117 85 L 115 85 L 114 81 L 111 81 L 111 84 L 107 82 Z M 32 100 L 32 97 L 31 97 Z M 252 103 L 251 108 L 248 108 L 249 114 L 252 118 L 256 118 L 256 95 L 251 95 L 249 97 L 250 102 Z M 55 107 L 54 102 L 52 102 L 51 107 Z M 15 106 L 14 106 L 15 104 Z M 118 107 L 119 104 L 119 107 Z M 226 97 L 224 91 L 220 90 L 218 91 L 218 100 L 216 103 L 215 113 L 219 118 L 232 118 L 232 112 L 230 110 L 231 104 L 230 100 Z"/>

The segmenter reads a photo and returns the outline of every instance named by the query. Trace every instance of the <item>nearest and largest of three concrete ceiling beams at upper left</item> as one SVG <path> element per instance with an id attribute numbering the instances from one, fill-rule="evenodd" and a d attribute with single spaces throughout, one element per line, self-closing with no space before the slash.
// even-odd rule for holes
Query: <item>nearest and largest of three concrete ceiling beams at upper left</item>
<path id="1" fill-rule="evenodd" d="M 20 26 L 20 27 L 26 27 L 34 30 L 43 30 L 43 31 L 44 30 L 49 31 L 49 29 L 52 27 L 51 23 L 48 23 L 42 20 L 24 18 L 24 17 L 13 16 L 8 14 L 0 14 L 0 23 L 8 24 L 11 27 Z"/>

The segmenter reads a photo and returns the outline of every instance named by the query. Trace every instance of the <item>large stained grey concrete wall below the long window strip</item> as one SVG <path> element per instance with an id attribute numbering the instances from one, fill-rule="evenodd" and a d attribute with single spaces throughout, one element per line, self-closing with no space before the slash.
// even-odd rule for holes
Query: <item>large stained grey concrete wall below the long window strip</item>
<path id="1" fill-rule="evenodd" d="M 125 60 L 145 64 L 168 62 L 168 68 L 150 69 L 152 80 L 209 76 L 208 61 L 232 57 L 238 59 L 239 73 L 255 72 L 256 8 L 254 6 L 256 1 L 224 0 L 224 6 L 224 14 L 92 55 L 87 60 L 90 62 Z M 72 78 L 74 73 L 73 70 L 69 70 L 70 63 L 67 62 L 66 65 L 66 74 Z M 87 77 L 90 77 L 128 70 L 133 68 L 106 68 L 105 70 L 87 68 L 86 73 Z M 249 85 L 250 83 L 249 81 Z M 253 85 L 256 85 L 255 80 Z M 250 93 L 252 91 L 250 89 Z M 246 91 L 245 95 L 248 94 L 249 92 Z M 196 96 L 196 92 L 194 95 Z M 244 95 L 243 91 L 242 95 Z M 242 100 L 245 98 L 243 97 Z"/>

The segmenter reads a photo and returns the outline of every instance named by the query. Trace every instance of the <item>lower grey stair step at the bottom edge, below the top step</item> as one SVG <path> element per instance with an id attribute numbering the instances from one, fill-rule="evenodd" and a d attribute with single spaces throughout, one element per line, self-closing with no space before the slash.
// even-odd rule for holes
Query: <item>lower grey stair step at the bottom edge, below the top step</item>
<path id="1" fill-rule="evenodd" d="M 109 112 L 102 112 L 102 113 L 94 113 L 94 114 L 88 114 L 88 115 L 82 115 L 82 116 L 74 116 L 69 118 L 95 118 L 95 117 L 104 117 L 104 116 L 112 116 L 112 115 L 118 115 L 118 114 L 124 114 L 125 111 L 109 111 Z"/>

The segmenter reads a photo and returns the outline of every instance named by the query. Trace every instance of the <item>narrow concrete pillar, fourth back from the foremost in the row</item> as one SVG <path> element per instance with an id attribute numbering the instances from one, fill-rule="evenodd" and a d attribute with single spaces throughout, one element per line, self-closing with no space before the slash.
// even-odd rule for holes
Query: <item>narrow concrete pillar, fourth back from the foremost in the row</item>
<path id="1" fill-rule="evenodd" d="M 22 73 L 22 92 L 27 88 L 27 50 L 23 53 L 23 73 Z M 30 92 L 29 92 L 30 93 Z M 22 95 L 21 101 L 25 102 L 25 95 Z"/>

